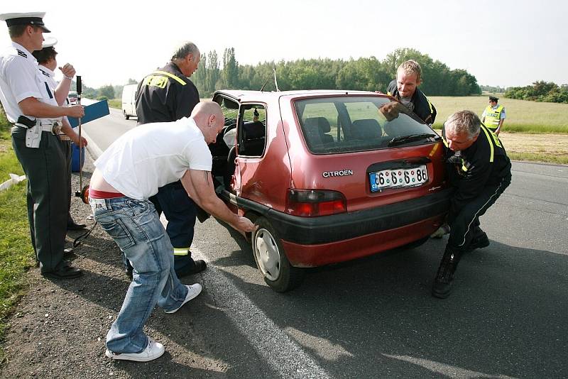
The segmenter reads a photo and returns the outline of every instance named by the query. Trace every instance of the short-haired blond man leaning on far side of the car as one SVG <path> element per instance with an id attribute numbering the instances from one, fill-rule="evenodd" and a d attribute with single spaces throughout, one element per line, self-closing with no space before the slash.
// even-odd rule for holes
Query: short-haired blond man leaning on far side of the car
<path id="1" fill-rule="evenodd" d="M 422 121 L 432 125 L 436 119 L 437 111 L 418 88 L 421 78 L 422 68 L 418 62 L 407 60 L 398 66 L 396 79 L 388 84 L 387 94 L 413 111 Z"/>

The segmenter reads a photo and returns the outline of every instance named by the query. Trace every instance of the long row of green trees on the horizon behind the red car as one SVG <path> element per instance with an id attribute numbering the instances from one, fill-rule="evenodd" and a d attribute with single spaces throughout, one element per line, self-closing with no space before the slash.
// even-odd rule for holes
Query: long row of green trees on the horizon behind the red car
<path id="1" fill-rule="evenodd" d="M 355 89 L 386 92 L 388 83 L 396 77 L 396 69 L 405 60 L 413 59 L 422 67 L 420 88 L 429 96 L 468 96 L 481 94 L 474 75 L 466 70 L 450 70 L 439 60 L 415 49 L 395 50 L 384 60 L 361 57 L 357 60 L 301 59 L 279 62 L 259 62 L 240 65 L 234 48 L 226 48 L 223 56 L 217 51 L 202 54 L 197 72 L 192 76 L 202 97 L 210 97 L 217 89 L 272 90 L 273 68 L 280 90 L 290 89 Z"/>

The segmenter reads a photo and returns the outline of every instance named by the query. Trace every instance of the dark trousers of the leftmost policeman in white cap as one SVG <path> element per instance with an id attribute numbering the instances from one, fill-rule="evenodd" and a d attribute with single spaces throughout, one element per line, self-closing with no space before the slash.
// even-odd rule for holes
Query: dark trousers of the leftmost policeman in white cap
<path id="1" fill-rule="evenodd" d="M 40 270 L 58 270 L 67 233 L 65 157 L 59 138 L 42 132 L 39 148 L 26 147 L 26 128 L 14 126 L 12 146 L 28 178 L 28 221 Z"/>

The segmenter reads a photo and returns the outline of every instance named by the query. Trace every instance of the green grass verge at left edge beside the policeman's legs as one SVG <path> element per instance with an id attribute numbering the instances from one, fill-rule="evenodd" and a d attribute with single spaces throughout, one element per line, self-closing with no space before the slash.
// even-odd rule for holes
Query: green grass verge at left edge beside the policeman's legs
<path id="1" fill-rule="evenodd" d="M 0 109 L 0 182 L 8 180 L 9 173 L 23 175 L 11 147 L 10 127 Z M 5 318 L 24 288 L 26 278 L 23 274 L 33 266 L 26 216 L 26 185 L 24 180 L 0 192 L 0 339 L 6 328 Z M 0 352 L 0 361 L 1 358 Z"/>

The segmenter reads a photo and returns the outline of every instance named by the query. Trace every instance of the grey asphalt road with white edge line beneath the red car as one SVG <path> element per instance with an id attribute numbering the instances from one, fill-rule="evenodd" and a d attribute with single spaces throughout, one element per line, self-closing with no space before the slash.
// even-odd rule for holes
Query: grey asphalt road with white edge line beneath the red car
<path id="1" fill-rule="evenodd" d="M 84 131 L 96 156 L 95 144 L 104 150 L 134 126 L 112 110 Z M 491 245 L 464 256 L 454 292 L 437 300 L 445 238 L 310 270 L 278 294 L 239 234 L 198 223 L 192 251 L 209 264 L 212 313 L 223 313 L 212 317 L 212 346 L 239 341 L 217 358 L 266 378 L 568 377 L 568 167 L 513 163 L 481 225 Z"/>

